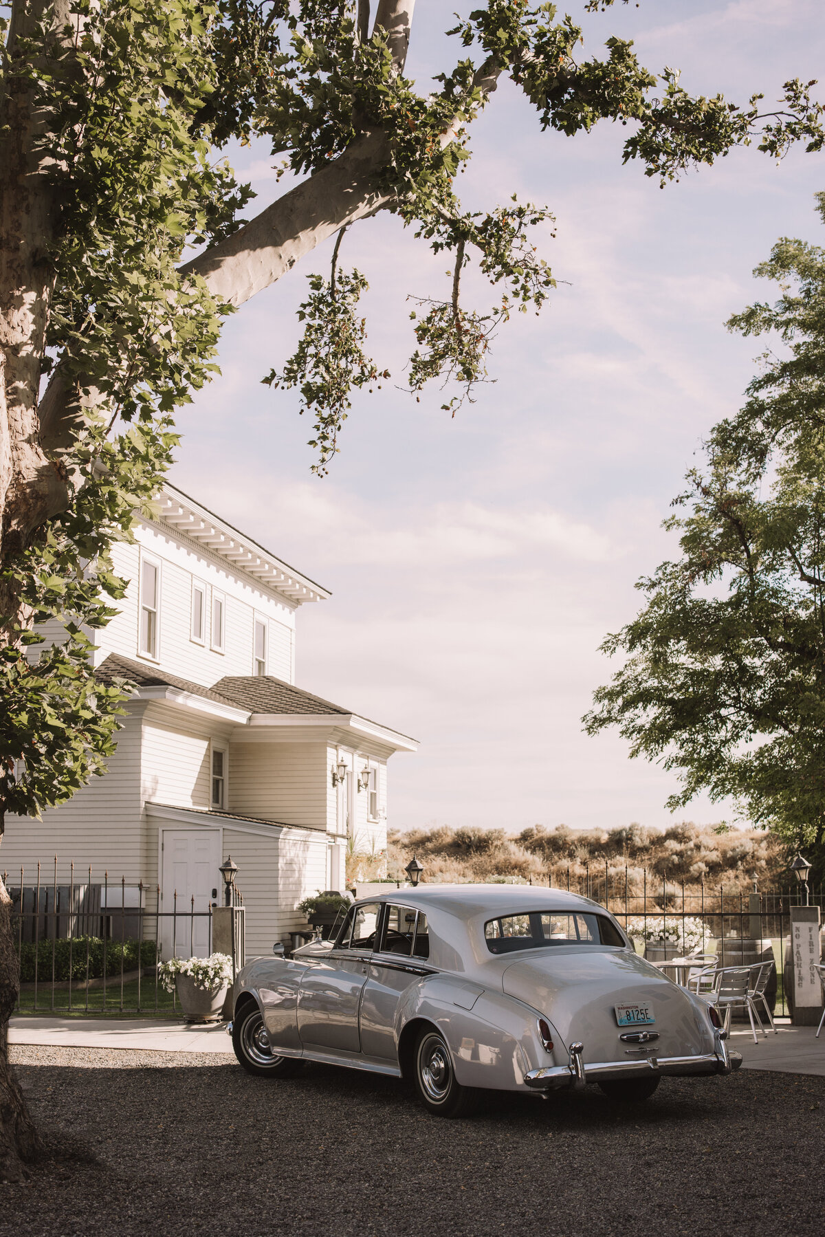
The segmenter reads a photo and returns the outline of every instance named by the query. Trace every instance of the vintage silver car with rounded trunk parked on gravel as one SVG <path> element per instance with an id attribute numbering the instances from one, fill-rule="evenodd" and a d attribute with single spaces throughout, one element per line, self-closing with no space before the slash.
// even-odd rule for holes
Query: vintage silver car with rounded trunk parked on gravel
<path id="1" fill-rule="evenodd" d="M 506 884 L 390 889 L 334 940 L 239 972 L 233 1044 L 250 1074 L 327 1061 L 413 1080 L 430 1112 L 482 1090 L 597 1084 L 639 1101 L 663 1075 L 730 1074 L 715 1007 L 639 957 L 573 893 Z"/>

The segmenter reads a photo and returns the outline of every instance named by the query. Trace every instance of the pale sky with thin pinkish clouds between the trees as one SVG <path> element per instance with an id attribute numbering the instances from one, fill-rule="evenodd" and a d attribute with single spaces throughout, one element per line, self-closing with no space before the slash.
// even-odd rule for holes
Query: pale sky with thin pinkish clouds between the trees
<path id="1" fill-rule="evenodd" d="M 418 0 L 408 72 L 422 89 L 463 54 L 440 33 L 456 7 L 472 5 Z M 825 62 L 821 0 L 642 0 L 583 24 L 741 104 Z M 557 235 L 539 246 L 560 282 L 539 318 L 501 328 L 497 381 L 454 419 L 437 386 L 421 403 L 397 390 L 414 346 L 406 297 L 444 298 L 449 280 L 391 216 L 341 246 L 370 281 L 369 351 L 392 380 L 355 396 L 329 477 L 309 473 L 296 393 L 260 380 L 293 351 L 306 276 L 328 272 L 330 245 L 229 322 L 223 377 L 178 418 L 172 481 L 333 590 L 298 612 L 298 684 L 421 740 L 391 761 L 390 825 L 672 821 L 675 778 L 630 761 L 616 734 L 586 737 L 580 717 L 610 674 L 597 646 L 639 609 L 638 576 L 675 553 L 660 521 L 762 350 L 725 320 L 773 294 L 751 271 L 778 236 L 825 242 L 825 160 L 800 150 L 777 167 L 753 147 L 659 189 L 622 166 L 626 134 L 542 134 L 510 84 L 475 124 L 465 204 L 547 204 Z M 255 209 L 288 187 L 263 147 L 233 161 Z M 465 282 L 468 304 L 494 303 Z M 732 813 L 698 799 L 678 818 Z"/>

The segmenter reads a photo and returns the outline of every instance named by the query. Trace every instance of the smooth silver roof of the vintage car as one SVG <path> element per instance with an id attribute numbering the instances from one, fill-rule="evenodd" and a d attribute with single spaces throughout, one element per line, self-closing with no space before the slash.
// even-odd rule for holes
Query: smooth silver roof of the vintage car
<path id="1" fill-rule="evenodd" d="M 517 915 L 526 910 L 602 909 L 591 898 L 566 889 L 539 884 L 419 884 L 417 888 L 387 889 L 359 902 L 395 902 L 416 910 L 444 910 L 456 919 L 477 915 Z"/>

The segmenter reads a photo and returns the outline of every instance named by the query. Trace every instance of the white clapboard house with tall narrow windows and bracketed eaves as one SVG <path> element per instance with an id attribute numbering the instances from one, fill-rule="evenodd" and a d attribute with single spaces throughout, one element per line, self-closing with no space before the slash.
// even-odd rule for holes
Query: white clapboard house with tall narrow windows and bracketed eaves
<path id="1" fill-rule="evenodd" d="M 136 684 L 116 752 L 42 820 L 7 818 L 2 866 L 31 886 L 41 861 L 49 884 L 57 855 L 58 883 L 73 861 L 127 903 L 142 883 L 147 910 L 160 886 L 161 910 L 203 912 L 231 856 L 247 956 L 268 952 L 302 898 L 344 889 L 348 844 L 386 849 L 387 761 L 416 742 L 294 685 L 297 612 L 329 593 L 171 485 L 113 557 L 131 583 L 95 670 Z"/>

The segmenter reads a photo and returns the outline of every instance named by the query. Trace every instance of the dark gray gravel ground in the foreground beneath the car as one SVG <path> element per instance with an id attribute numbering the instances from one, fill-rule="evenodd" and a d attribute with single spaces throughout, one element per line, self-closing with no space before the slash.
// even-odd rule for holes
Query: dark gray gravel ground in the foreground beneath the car
<path id="1" fill-rule="evenodd" d="M 595 1087 L 443 1121 L 392 1080 L 231 1058 L 16 1048 L 48 1132 L 15 1237 L 203 1230 L 289 1237 L 680 1237 L 823 1232 L 825 1077 L 665 1080 L 636 1110 Z"/>

